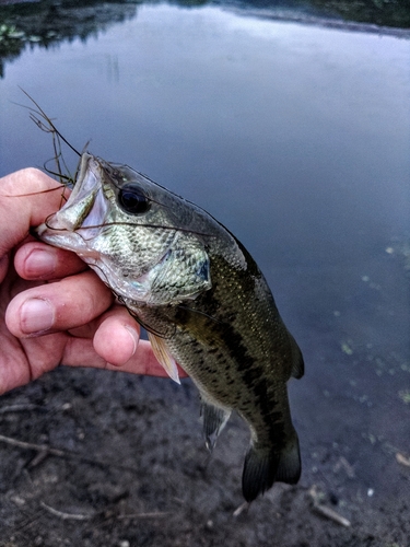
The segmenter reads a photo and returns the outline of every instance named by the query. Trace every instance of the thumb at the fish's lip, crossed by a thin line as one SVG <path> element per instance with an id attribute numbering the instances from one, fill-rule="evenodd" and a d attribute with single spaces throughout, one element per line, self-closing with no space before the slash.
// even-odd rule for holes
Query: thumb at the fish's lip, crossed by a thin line
<path id="1" fill-rule="evenodd" d="M 55 191 L 49 191 L 51 189 Z M 22 242 L 31 225 L 38 225 L 57 211 L 63 187 L 35 168 L 26 168 L 1 178 L 0 257 Z"/>

